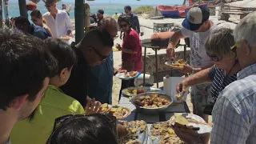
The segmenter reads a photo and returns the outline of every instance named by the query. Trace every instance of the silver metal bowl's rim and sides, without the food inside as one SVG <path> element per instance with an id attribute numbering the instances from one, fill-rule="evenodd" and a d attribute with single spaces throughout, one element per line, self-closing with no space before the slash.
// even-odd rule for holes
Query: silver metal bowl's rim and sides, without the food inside
<path id="1" fill-rule="evenodd" d="M 134 103 L 138 98 L 140 98 L 142 96 L 146 96 L 146 95 L 151 97 L 152 94 L 158 94 L 158 96 L 160 98 L 165 98 L 166 100 L 168 100 L 170 102 L 170 104 L 166 105 L 166 106 L 158 107 L 158 108 L 145 108 L 145 107 L 142 107 L 142 106 L 138 106 Z M 157 93 L 157 92 L 149 92 L 149 93 L 138 94 L 137 96 L 135 96 L 134 98 L 131 99 L 131 103 L 134 106 L 136 106 L 137 112 L 144 113 L 144 114 L 159 114 L 159 113 L 165 113 L 166 112 L 166 110 L 169 108 L 169 106 L 173 103 L 173 99 L 170 98 L 170 96 L 168 96 L 166 94 Z"/>

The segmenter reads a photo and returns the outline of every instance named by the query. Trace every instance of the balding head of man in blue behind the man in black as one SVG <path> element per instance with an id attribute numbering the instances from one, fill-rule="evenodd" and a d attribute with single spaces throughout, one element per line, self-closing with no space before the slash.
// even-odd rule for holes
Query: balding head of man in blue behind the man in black
<path id="1" fill-rule="evenodd" d="M 118 35 L 118 22 L 114 18 L 106 17 L 100 22 L 99 28 L 107 30 L 112 37 Z"/>

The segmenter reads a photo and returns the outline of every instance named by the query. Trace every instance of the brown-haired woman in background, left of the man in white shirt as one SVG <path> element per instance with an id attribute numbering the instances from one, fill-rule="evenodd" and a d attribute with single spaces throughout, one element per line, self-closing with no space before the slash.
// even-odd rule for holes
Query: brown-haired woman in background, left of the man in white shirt
<path id="1" fill-rule="evenodd" d="M 31 21 L 34 23 L 34 25 L 41 26 L 50 34 L 50 37 L 53 36 L 53 34 L 50 31 L 50 28 L 47 26 L 46 19 L 42 18 L 42 14 L 40 10 L 33 10 L 30 13 L 30 16 L 31 16 Z"/>

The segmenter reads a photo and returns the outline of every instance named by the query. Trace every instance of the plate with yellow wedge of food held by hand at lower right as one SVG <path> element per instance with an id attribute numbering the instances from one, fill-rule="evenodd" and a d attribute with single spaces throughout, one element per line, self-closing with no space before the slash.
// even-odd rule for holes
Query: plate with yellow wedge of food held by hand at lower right
<path id="1" fill-rule="evenodd" d="M 169 120 L 170 125 L 193 131 L 195 134 L 209 134 L 212 130 L 211 124 L 201 117 L 189 113 L 176 113 Z"/>

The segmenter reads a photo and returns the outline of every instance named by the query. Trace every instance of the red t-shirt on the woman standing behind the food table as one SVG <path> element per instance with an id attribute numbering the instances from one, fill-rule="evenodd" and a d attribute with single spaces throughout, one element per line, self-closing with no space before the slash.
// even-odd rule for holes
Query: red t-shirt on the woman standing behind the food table
<path id="1" fill-rule="evenodd" d="M 134 62 L 134 70 L 142 71 L 142 44 L 138 33 L 135 30 L 130 30 L 123 38 L 122 48 L 136 51 L 137 54 L 127 54 L 122 52 L 122 61 Z"/>

